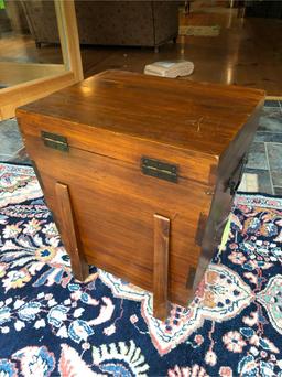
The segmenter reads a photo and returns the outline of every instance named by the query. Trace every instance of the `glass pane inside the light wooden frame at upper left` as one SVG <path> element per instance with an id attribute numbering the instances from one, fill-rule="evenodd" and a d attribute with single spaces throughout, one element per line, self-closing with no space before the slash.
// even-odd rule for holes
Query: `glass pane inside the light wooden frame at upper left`
<path id="1" fill-rule="evenodd" d="M 0 0 L 0 89 L 64 73 L 51 0 Z"/>

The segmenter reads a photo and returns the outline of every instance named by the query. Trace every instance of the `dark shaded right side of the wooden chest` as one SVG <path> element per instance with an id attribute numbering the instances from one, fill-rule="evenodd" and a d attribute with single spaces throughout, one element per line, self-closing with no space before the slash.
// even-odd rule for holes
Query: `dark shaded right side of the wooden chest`
<path id="1" fill-rule="evenodd" d="M 203 236 L 202 255 L 194 281 L 194 289 L 202 280 L 203 272 L 213 258 L 217 246 L 220 244 L 223 231 L 231 211 L 232 198 L 239 187 L 243 166 L 247 163 L 248 150 L 259 125 L 262 106 L 263 100 L 258 103 L 256 110 L 250 115 L 248 121 L 220 155 L 217 171 L 214 173 L 216 186 Z M 213 180 L 213 172 L 210 179 Z"/>

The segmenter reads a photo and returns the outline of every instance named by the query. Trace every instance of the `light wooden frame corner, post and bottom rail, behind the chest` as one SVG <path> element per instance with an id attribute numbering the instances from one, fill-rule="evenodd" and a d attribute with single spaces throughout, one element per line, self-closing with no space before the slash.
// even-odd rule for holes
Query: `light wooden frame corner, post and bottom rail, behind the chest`
<path id="1" fill-rule="evenodd" d="M 54 2 L 64 64 L 1 62 L 0 76 L 2 74 L 7 82 L 10 74 L 10 82 L 14 85 L 0 90 L 0 120 L 14 117 L 17 107 L 84 78 L 74 0 Z M 43 73 L 44 77 L 39 78 Z"/>

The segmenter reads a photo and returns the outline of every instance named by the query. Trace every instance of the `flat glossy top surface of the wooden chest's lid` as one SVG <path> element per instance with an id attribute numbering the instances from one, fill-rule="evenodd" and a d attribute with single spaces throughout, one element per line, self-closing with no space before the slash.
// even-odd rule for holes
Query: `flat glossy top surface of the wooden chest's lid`
<path id="1" fill-rule="evenodd" d="M 20 111 L 219 157 L 263 98 L 258 89 L 106 71 Z"/>

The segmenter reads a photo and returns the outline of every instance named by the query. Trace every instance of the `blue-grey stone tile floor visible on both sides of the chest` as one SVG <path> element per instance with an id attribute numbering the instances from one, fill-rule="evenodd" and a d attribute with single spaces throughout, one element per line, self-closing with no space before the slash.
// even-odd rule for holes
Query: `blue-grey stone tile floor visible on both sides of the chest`
<path id="1" fill-rule="evenodd" d="M 30 164 L 15 119 L 0 122 L 0 162 Z M 282 195 L 282 100 L 267 100 L 239 191 Z"/>

